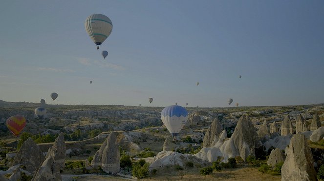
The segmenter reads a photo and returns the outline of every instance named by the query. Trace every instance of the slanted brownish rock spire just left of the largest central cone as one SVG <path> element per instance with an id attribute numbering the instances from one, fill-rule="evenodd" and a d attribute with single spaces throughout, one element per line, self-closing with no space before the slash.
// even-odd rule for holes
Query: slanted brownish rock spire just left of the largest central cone
<path id="1" fill-rule="evenodd" d="M 214 119 L 211 127 L 207 129 L 207 132 L 204 136 L 202 147 L 212 147 L 218 141 L 220 133 L 223 131 L 223 127 L 219 123 L 217 118 Z"/>

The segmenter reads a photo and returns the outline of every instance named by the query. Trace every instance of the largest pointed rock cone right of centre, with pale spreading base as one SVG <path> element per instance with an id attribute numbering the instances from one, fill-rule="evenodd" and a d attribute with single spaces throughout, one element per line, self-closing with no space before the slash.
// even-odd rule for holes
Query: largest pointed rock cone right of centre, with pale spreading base
<path id="1" fill-rule="evenodd" d="M 241 116 L 231 138 L 221 145 L 224 157 L 240 156 L 244 161 L 249 155 L 255 156 L 255 148 L 261 145 L 259 135 L 248 116 Z M 227 161 L 228 158 L 225 158 Z"/>

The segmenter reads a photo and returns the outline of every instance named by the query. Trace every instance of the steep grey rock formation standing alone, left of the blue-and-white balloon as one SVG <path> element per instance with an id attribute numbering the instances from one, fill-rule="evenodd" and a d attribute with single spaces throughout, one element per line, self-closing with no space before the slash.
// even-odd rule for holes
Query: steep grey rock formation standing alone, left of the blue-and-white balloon
<path id="1" fill-rule="evenodd" d="M 101 166 L 101 168 L 107 173 L 117 173 L 120 170 L 119 155 L 120 151 L 117 137 L 112 131 L 93 156 L 91 165 L 92 167 Z"/>

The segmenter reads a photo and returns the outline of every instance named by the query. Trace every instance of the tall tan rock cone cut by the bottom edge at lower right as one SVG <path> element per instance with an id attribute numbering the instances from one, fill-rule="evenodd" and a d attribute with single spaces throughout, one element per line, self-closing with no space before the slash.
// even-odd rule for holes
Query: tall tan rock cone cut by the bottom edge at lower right
<path id="1" fill-rule="evenodd" d="M 302 133 L 291 138 L 281 168 L 281 181 L 317 181 L 313 155 Z"/>

